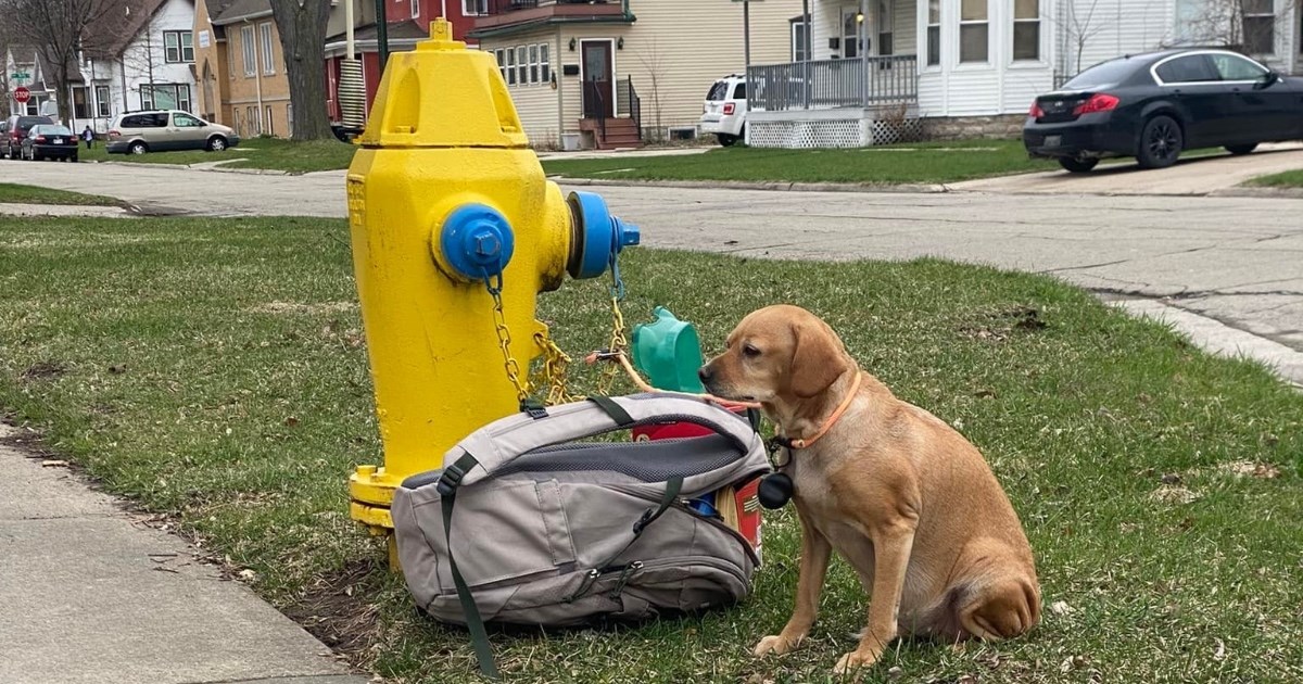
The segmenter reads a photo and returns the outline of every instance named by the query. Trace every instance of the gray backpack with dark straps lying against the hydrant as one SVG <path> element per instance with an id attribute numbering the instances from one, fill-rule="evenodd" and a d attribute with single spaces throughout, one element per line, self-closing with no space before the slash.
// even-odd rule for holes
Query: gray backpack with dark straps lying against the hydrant
<path id="1" fill-rule="evenodd" d="M 486 675 L 495 670 L 485 621 L 641 619 L 749 593 L 756 550 L 694 500 L 770 470 L 745 418 L 667 393 L 593 397 L 533 416 L 470 434 L 443 469 L 403 482 L 391 508 L 416 603 L 470 628 Z M 713 434 L 577 442 L 670 422 Z"/>

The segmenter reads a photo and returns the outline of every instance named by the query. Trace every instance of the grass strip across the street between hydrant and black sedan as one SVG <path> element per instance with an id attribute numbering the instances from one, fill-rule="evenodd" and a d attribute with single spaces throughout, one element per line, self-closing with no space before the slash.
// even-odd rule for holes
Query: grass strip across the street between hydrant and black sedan
<path id="1" fill-rule="evenodd" d="M 1022 141 L 973 139 L 855 150 L 728 147 L 701 155 L 620 156 L 543 162 L 571 178 L 790 182 L 958 182 L 985 176 L 1059 168 L 1029 159 Z"/>

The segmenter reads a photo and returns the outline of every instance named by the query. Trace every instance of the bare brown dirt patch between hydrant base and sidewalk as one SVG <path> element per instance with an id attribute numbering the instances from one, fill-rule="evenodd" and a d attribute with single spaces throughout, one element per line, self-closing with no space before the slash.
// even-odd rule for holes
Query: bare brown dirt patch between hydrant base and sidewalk
<path id="1" fill-rule="evenodd" d="M 334 575 L 317 580 L 308 593 L 281 612 L 335 653 L 360 662 L 378 638 L 379 607 L 369 581 L 375 560 L 354 560 Z"/>

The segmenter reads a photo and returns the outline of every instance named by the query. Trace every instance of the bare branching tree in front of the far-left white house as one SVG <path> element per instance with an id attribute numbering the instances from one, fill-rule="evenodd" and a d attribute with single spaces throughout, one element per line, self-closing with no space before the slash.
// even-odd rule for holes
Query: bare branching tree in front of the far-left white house
<path id="1" fill-rule="evenodd" d="M 128 8 L 139 0 L 0 0 L 0 16 L 12 35 L 33 44 L 53 72 L 59 117 L 69 119 L 68 83 L 78 73 L 83 50 L 107 44 L 126 23 Z M 138 10 L 138 9 L 137 9 Z"/>

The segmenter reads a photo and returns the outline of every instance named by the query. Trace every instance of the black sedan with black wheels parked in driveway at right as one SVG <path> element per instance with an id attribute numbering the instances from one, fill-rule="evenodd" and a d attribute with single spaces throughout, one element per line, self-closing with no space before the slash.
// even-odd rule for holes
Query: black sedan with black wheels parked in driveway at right
<path id="1" fill-rule="evenodd" d="M 1085 173 L 1109 156 L 1141 168 L 1182 150 L 1303 139 L 1303 78 L 1225 50 L 1169 50 L 1097 64 L 1036 98 L 1023 125 L 1028 154 Z"/>

